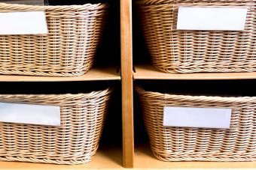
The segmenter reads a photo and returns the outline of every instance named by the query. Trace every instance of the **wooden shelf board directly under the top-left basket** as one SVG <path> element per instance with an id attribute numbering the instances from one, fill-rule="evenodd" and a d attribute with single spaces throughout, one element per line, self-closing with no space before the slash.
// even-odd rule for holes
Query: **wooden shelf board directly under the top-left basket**
<path id="1" fill-rule="evenodd" d="M 96 81 L 96 80 L 120 80 L 117 67 L 92 68 L 83 76 L 53 77 L 53 76 L 0 76 L 0 82 L 72 82 L 72 81 Z"/>

